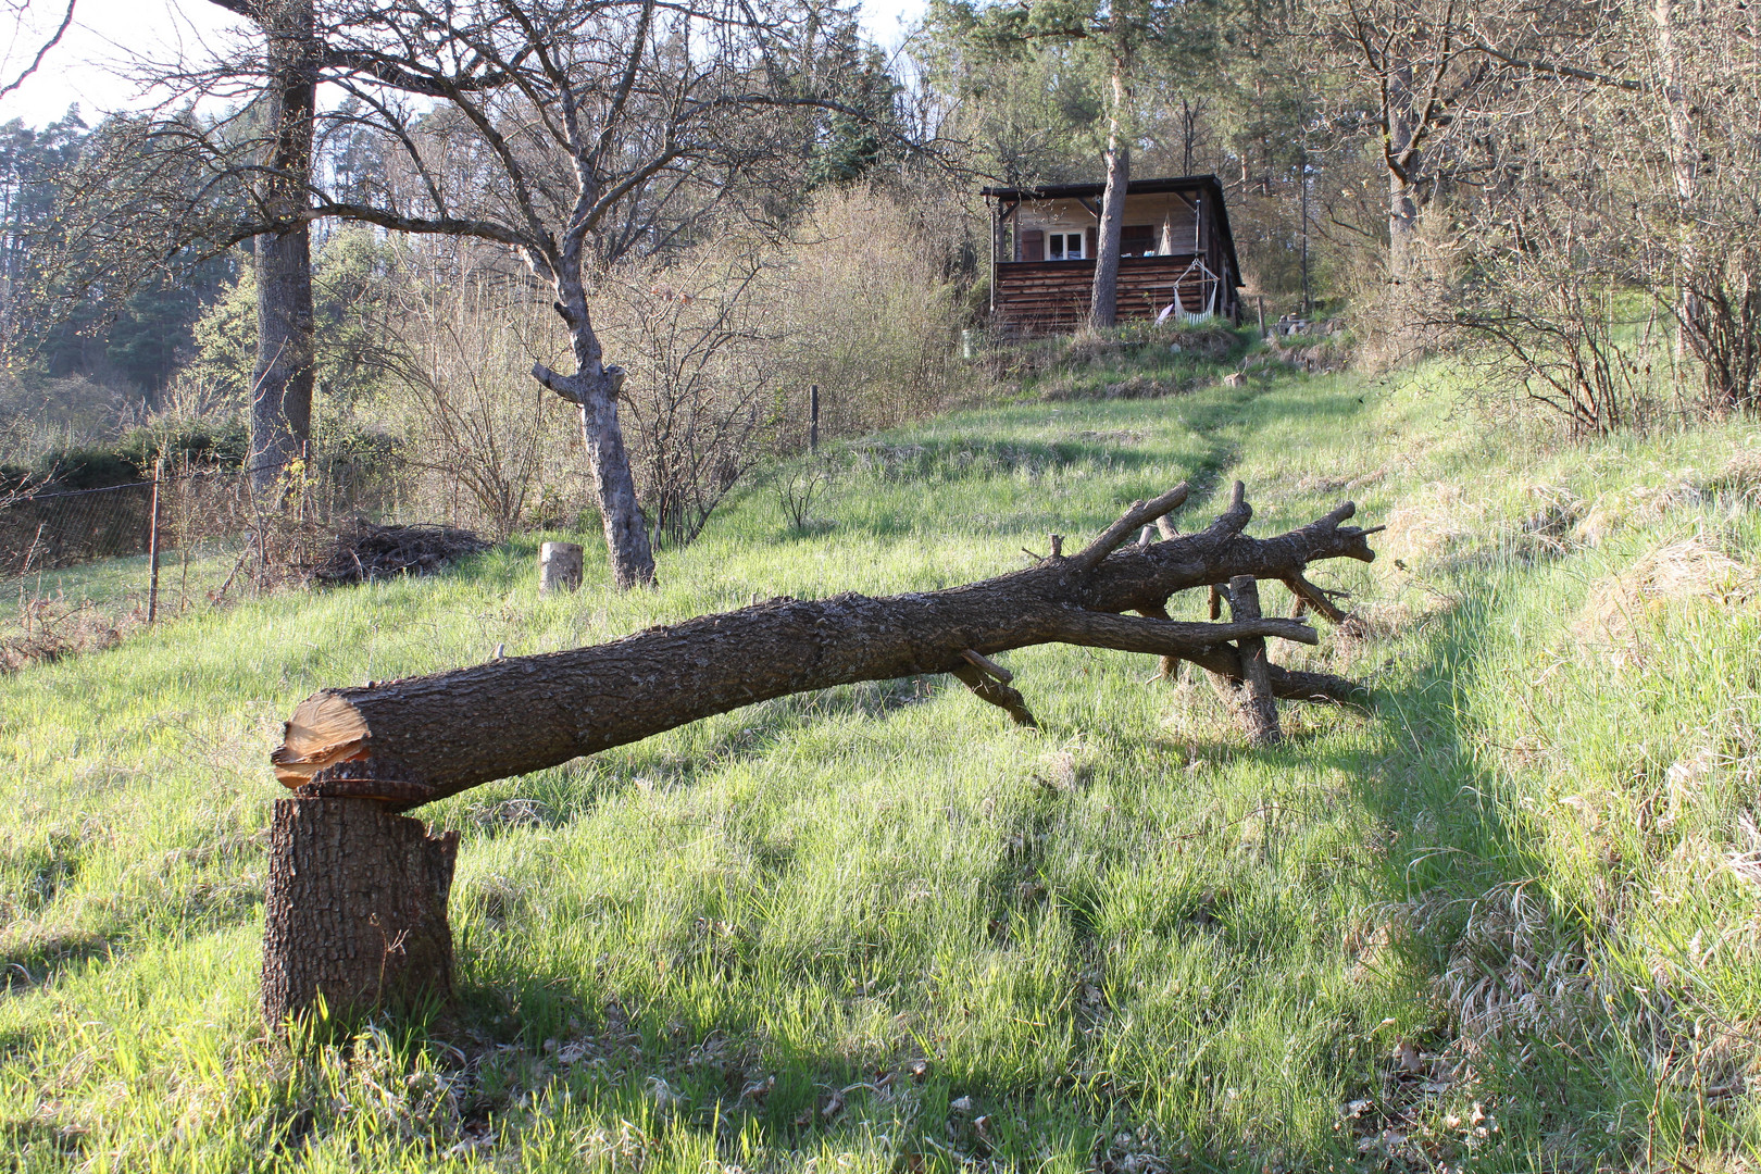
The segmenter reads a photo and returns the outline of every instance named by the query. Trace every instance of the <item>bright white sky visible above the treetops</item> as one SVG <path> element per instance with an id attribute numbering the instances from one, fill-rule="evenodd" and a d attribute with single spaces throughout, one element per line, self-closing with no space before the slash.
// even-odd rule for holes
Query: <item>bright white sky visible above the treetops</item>
<path id="1" fill-rule="evenodd" d="M 925 0 L 863 0 L 863 26 L 893 49 L 923 9 Z M 7 42 L 0 81 L 11 81 L 30 63 L 65 12 L 65 0 L 28 0 L 25 26 L 0 37 Z M 139 106 L 146 99 L 125 76 L 130 55 L 176 60 L 180 48 L 225 37 L 236 23 L 208 0 L 76 0 L 74 25 L 62 42 L 23 86 L 0 99 L 0 123 L 21 118 L 44 127 L 77 102 L 90 125 L 106 111 Z"/>

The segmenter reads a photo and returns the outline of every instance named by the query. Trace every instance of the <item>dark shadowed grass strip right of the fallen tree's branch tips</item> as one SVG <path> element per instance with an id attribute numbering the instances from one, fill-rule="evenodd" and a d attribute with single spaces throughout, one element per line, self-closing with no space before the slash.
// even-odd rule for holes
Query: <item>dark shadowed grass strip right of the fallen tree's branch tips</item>
<path id="1" fill-rule="evenodd" d="M 1585 947 L 1573 910 L 1536 884 L 1546 866 L 1495 808 L 1502 780 L 1479 760 L 1463 727 L 1465 692 L 1495 620 L 1493 593 L 1476 591 L 1435 623 L 1409 683 L 1377 690 L 1384 741 L 1352 771 L 1358 801 L 1398 838 L 1384 877 L 1395 965 L 1414 987 L 1437 993 L 1428 1030 L 1414 1042 L 1426 1060 L 1439 1058 L 1414 1074 L 1388 1061 L 1379 1107 L 1389 1116 L 1411 1112 L 1425 1100 L 1425 1081 L 1449 1084 L 1470 1070 L 1472 1095 L 1500 1105 L 1502 1135 L 1492 1148 L 1502 1142 L 1513 1156 L 1548 1149 L 1560 1167 L 1601 1169 L 1632 1137 L 1585 1130 L 1583 1121 L 1643 1121 L 1652 1090 L 1624 1088 L 1597 1058 L 1620 1028 L 1610 1007 L 1588 998 L 1588 984 L 1571 989 L 1569 973 L 1567 986 L 1548 986 L 1558 975 L 1543 980 L 1550 952 L 1581 959 Z M 1527 924 L 1511 924 L 1525 921 L 1513 917 L 1516 899 Z M 1587 979 L 1588 963 L 1581 965 Z M 1527 1000 L 1530 1010 L 1500 1030 L 1476 1031 L 1458 1017 L 1455 1000 L 1463 993 L 1511 1010 Z"/>

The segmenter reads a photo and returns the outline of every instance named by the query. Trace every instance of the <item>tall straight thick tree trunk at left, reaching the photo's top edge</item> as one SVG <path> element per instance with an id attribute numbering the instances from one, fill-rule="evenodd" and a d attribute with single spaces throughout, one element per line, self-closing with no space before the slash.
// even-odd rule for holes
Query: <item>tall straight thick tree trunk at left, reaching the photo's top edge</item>
<path id="1" fill-rule="evenodd" d="M 259 18 L 268 55 L 271 146 L 264 211 L 287 225 L 259 236 L 257 363 L 250 389 L 252 486 L 273 489 L 312 438 L 312 180 L 317 33 L 312 0 L 275 0 Z"/>

